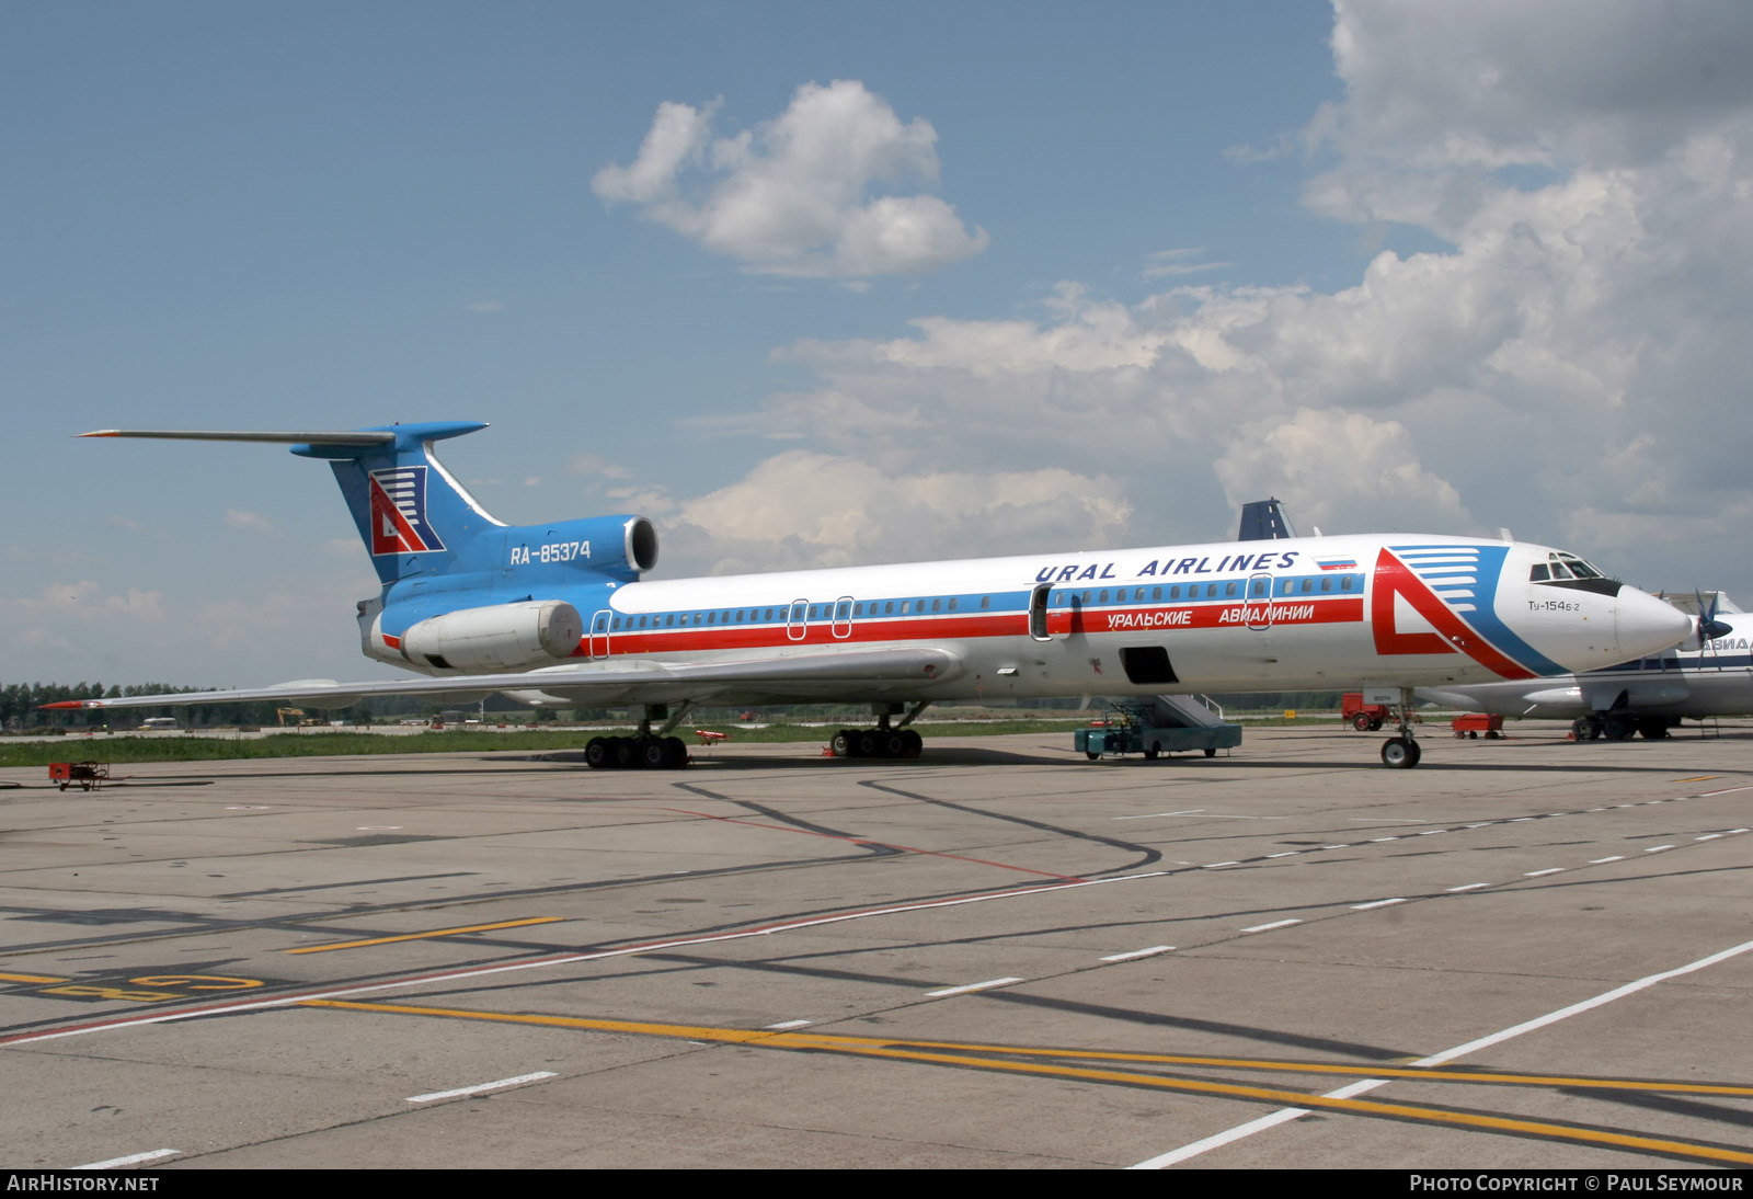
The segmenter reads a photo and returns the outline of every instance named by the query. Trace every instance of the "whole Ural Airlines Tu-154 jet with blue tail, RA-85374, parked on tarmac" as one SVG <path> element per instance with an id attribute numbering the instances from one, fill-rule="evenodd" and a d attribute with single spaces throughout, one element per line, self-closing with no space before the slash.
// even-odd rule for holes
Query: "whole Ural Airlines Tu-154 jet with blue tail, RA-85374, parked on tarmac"
<path id="1" fill-rule="evenodd" d="M 596 738 L 593 766 L 673 768 L 699 703 L 868 703 L 850 756 L 910 757 L 938 699 L 1203 691 L 1392 691 L 1565 675 L 1664 650 L 1693 617 L 1562 550 L 1413 533 L 650 580 L 640 515 L 510 526 L 433 454 L 479 422 L 338 433 L 102 429 L 84 436 L 279 442 L 328 461 L 382 584 L 359 601 L 368 657 L 419 678 L 61 706 L 138 708 L 368 696 L 484 696 L 633 706 L 640 734 Z M 1550 563 L 1564 563 L 1555 582 Z M 54 705 L 51 705 L 54 706 Z M 899 717 L 899 720 L 892 720 Z M 656 726 L 656 727 L 654 727 Z M 845 743 L 841 743 L 845 741 Z M 1381 748 L 1416 766 L 1409 724 Z"/>

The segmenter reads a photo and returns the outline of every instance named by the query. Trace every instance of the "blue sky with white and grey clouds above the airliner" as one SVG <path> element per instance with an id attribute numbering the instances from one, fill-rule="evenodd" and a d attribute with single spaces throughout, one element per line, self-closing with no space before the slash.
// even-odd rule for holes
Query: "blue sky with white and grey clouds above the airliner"
<path id="1" fill-rule="evenodd" d="M 7 5 L 0 678 L 375 673 L 324 472 L 102 426 L 491 421 L 671 577 L 1274 491 L 1753 594 L 1748 19 L 1646 7 Z"/>

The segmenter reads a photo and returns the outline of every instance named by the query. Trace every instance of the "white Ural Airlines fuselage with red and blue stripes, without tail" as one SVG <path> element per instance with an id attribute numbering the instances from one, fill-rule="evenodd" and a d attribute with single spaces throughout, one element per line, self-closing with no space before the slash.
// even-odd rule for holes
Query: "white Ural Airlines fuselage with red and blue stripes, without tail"
<path id="1" fill-rule="evenodd" d="M 1692 628 L 1632 587 L 1532 584 L 1550 554 L 1329 536 L 633 582 L 582 612 L 571 663 L 531 682 L 638 659 L 931 645 L 961 668 L 917 680 L 917 699 L 1439 685 L 1592 670 Z"/>

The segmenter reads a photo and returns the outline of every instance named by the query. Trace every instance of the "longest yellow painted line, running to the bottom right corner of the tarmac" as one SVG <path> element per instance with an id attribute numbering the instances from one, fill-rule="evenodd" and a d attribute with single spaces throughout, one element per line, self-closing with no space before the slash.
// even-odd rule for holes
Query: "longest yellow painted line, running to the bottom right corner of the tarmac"
<path id="1" fill-rule="evenodd" d="M 1090 1069 L 1080 1066 L 1054 1066 L 1050 1062 L 1008 1062 L 990 1057 L 968 1057 L 966 1054 L 934 1054 L 913 1048 L 896 1048 L 892 1041 L 875 1038 L 834 1036 L 822 1032 L 775 1032 L 749 1029 L 712 1029 L 687 1024 L 649 1024 L 640 1020 L 591 1020 L 584 1017 L 545 1017 L 519 1015 L 501 1011 L 465 1011 L 459 1008 L 422 1008 L 412 1004 L 387 1003 L 349 1003 L 342 999 L 307 999 L 303 1006 L 314 1008 L 349 1008 L 354 1011 L 379 1011 L 396 1015 L 429 1015 L 461 1020 L 487 1020 L 498 1024 L 531 1024 L 561 1029 L 587 1029 L 594 1032 L 640 1032 L 647 1036 L 685 1038 L 691 1041 L 720 1041 L 735 1045 L 761 1045 L 771 1048 L 806 1048 L 857 1054 L 861 1057 L 887 1057 L 896 1061 L 927 1062 L 936 1066 L 966 1066 L 973 1069 L 990 1069 L 1003 1073 L 1043 1075 L 1050 1078 L 1080 1078 L 1087 1082 L 1113 1082 L 1129 1087 L 1152 1087 L 1159 1090 L 1182 1090 L 1208 1096 L 1225 1096 L 1231 1099 L 1250 1099 L 1292 1108 L 1317 1108 L 1322 1111 L 1345 1111 L 1352 1115 L 1392 1117 L 1397 1120 L 1420 1120 L 1427 1124 L 1451 1124 L 1460 1127 L 1487 1129 L 1494 1132 L 1515 1132 L 1520 1136 L 1546 1136 L 1564 1141 L 1581 1141 L 1586 1145 L 1611 1145 L 1616 1148 L 1646 1150 L 1676 1157 L 1699 1157 L 1720 1162 L 1737 1162 L 1753 1166 L 1753 1153 L 1716 1148 L 1713 1145 L 1690 1145 L 1686 1141 L 1665 1141 L 1650 1136 L 1632 1136 L 1625 1132 L 1604 1132 L 1599 1129 L 1574 1127 L 1567 1124 L 1550 1124 L 1543 1120 L 1516 1120 L 1509 1117 L 1480 1115 L 1473 1111 L 1446 1111 L 1443 1108 L 1425 1108 L 1404 1103 L 1378 1103 L 1371 1099 L 1334 1099 L 1313 1096 L 1301 1090 L 1281 1090 L 1276 1087 L 1245 1087 L 1238 1083 L 1194 1082 L 1187 1078 L 1162 1078 L 1159 1075 L 1134 1075 L 1113 1069 Z M 992 1046 L 997 1052 L 1017 1054 L 1013 1046 Z M 1353 1075 L 1376 1075 L 1371 1068 L 1350 1071 Z M 1409 1071 L 1427 1076 L 1423 1071 Z"/>

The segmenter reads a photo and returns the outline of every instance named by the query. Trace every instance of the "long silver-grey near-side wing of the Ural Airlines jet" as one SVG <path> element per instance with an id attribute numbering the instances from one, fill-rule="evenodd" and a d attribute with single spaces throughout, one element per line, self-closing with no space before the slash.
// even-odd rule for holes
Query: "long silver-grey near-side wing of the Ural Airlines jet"
<path id="1" fill-rule="evenodd" d="M 947 649 L 885 649 L 785 654 L 759 659 L 636 664 L 601 663 L 549 666 L 500 675 L 456 675 L 445 678 L 393 678 L 387 682 L 342 684 L 303 678 L 273 687 L 237 691 L 184 691 L 124 699 L 68 699 L 46 708 L 167 708 L 195 703 L 282 703 L 314 708 L 345 708 L 372 696 L 433 696 L 442 701 L 473 701 L 491 692 L 510 692 L 526 701 L 559 701 L 580 706 L 624 703 L 680 703 L 735 698 L 738 703 L 796 699 L 864 701 L 913 698 L 922 685 L 954 678 L 962 670 Z"/>

